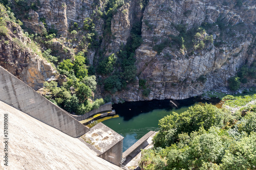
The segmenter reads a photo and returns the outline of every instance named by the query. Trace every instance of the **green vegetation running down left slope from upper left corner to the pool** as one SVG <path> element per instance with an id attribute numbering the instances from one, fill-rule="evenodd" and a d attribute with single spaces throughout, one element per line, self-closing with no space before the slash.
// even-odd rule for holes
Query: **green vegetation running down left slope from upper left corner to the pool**
<path id="1" fill-rule="evenodd" d="M 0 36 L 3 40 L 9 39 L 10 36 L 8 36 L 8 32 L 10 31 L 8 30 L 9 28 L 6 27 L 7 22 L 12 23 L 13 30 L 15 30 L 13 34 L 17 33 L 16 27 L 17 25 L 22 25 L 22 22 L 14 17 L 14 13 L 12 13 L 10 9 L 6 10 L 1 4 L 0 10 Z M 55 81 L 45 82 L 44 89 L 39 91 L 42 95 L 66 111 L 75 114 L 84 114 L 104 104 L 103 99 L 94 97 L 94 92 L 97 87 L 96 77 L 88 75 L 87 59 L 82 51 L 60 62 L 60 58 L 53 55 L 53 50 L 47 48 L 51 46 L 51 39 L 55 37 L 55 33 L 49 30 L 44 36 L 40 36 L 25 32 L 23 36 L 31 38 L 31 43 L 23 43 L 17 38 L 12 39 L 13 43 L 20 48 L 32 48 L 33 52 L 47 59 L 49 62 L 52 62 L 53 66 L 56 64 L 58 72 L 67 77 L 67 81 L 61 84 Z M 7 43 L 9 43 L 8 40 Z M 45 48 L 42 53 L 40 47 Z"/>

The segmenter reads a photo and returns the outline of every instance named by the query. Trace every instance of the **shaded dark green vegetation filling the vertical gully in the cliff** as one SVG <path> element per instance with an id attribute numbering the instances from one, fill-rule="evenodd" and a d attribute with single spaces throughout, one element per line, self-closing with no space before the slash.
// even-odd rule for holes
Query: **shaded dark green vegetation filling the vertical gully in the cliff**
<path id="1" fill-rule="evenodd" d="M 117 9 L 124 4 L 123 1 L 113 0 L 108 1 L 105 4 L 104 13 L 102 14 L 105 20 L 104 27 L 104 39 L 110 39 L 113 37 L 111 35 L 111 19 L 114 14 L 116 14 Z M 140 1 L 141 10 L 143 11 L 147 1 Z M 97 73 L 106 76 L 105 79 L 101 81 L 103 87 L 106 91 L 115 93 L 121 89 L 126 88 L 127 84 L 133 83 L 136 80 L 137 68 L 135 66 L 135 50 L 142 43 L 141 39 L 141 26 L 142 22 L 139 21 L 133 23 L 131 29 L 130 37 L 127 39 L 127 43 L 120 47 L 120 50 L 116 54 L 111 54 L 105 57 L 103 51 L 99 51 L 100 61 L 97 66 Z M 150 89 L 143 89 L 150 91 Z M 148 94 L 145 94 L 148 95 Z"/>

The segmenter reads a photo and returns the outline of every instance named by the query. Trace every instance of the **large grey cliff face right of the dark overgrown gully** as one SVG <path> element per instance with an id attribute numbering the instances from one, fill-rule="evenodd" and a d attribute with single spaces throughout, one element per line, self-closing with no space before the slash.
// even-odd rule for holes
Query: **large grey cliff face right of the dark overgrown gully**
<path id="1" fill-rule="evenodd" d="M 227 86 L 228 78 L 239 67 L 255 60 L 255 14 L 255 1 L 240 7 L 236 1 L 149 1 L 143 14 L 143 43 L 136 50 L 136 65 L 139 78 L 147 80 L 151 93 L 143 97 L 135 84 L 128 93 L 117 96 L 127 101 L 185 99 Z M 164 39 L 172 40 L 172 35 L 180 34 L 175 26 L 185 25 L 189 30 L 204 22 L 213 23 L 206 32 L 213 35 L 216 45 L 194 49 L 193 54 L 186 49 L 180 52 L 179 47 L 174 50 L 172 45 L 160 54 L 153 50 Z M 221 45 L 217 46 L 218 42 Z"/>

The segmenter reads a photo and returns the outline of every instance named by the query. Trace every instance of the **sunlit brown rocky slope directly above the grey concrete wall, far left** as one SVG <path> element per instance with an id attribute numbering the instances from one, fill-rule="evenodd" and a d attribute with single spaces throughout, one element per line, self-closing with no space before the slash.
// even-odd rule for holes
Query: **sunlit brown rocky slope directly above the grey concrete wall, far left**
<path id="1" fill-rule="evenodd" d="M 42 59 L 38 47 L 23 33 L 17 23 L 10 20 L 3 9 L 1 17 L 6 20 L 7 32 L 6 35 L 1 35 L 0 65 L 37 90 L 46 80 L 57 76 L 56 70 Z"/>

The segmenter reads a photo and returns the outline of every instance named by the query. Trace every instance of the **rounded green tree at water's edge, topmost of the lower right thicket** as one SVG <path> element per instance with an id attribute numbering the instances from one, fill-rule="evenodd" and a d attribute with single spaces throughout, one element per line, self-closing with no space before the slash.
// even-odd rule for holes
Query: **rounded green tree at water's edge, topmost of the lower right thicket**
<path id="1" fill-rule="evenodd" d="M 208 130 L 211 126 L 223 126 L 224 113 L 216 106 L 205 104 L 205 106 L 196 105 L 189 107 L 187 111 L 181 114 L 173 112 L 172 115 L 165 116 L 159 120 L 159 133 L 154 137 L 154 145 L 156 147 L 168 147 L 170 143 L 178 141 L 178 134 L 191 133 L 200 128 Z M 168 140 L 165 136 L 170 130 L 172 131 L 172 140 Z M 168 143 L 168 145 L 166 145 Z"/>

